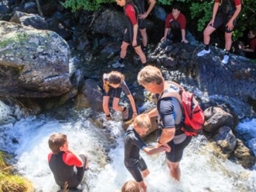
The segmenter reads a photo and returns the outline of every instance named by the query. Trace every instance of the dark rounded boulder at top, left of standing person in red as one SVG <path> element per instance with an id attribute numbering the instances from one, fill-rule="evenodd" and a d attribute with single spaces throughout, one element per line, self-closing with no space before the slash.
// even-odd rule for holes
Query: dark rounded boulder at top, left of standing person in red
<path id="1" fill-rule="evenodd" d="M 104 23 L 104 25 L 102 25 L 102 23 Z M 126 21 L 121 12 L 107 9 L 95 20 L 93 32 L 115 38 L 123 37 L 125 26 Z"/>

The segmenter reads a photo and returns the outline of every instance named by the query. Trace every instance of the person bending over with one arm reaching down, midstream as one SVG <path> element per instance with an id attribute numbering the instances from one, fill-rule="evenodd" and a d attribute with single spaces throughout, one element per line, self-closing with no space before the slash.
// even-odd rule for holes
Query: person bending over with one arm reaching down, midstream
<path id="1" fill-rule="evenodd" d="M 115 111 L 121 111 L 123 115 L 123 120 L 129 118 L 129 108 L 119 105 L 121 91 L 124 90 L 125 94 L 129 98 L 133 110 L 132 118 L 137 116 L 136 106 L 129 87 L 124 81 L 124 75 L 118 71 L 111 71 L 109 74 L 103 74 L 103 111 L 106 114 L 107 120 L 111 119 L 108 103 L 110 95 L 114 95 L 113 99 L 113 109 Z"/>

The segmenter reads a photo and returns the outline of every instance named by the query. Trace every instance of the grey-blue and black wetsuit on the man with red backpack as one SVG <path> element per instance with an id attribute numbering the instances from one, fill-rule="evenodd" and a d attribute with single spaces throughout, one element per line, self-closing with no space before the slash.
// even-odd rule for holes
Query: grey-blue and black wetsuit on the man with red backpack
<path id="1" fill-rule="evenodd" d="M 165 90 L 163 94 L 170 91 L 178 92 L 179 88 L 171 84 L 170 89 Z M 180 162 L 183 150 L 191 141 L 191 137 L 187 137 L 183 131 L 177 128 L 183 118 L 180 103 L 176 98 L 160 99 L 157 102 L 157 111 L 162 129 L 175 129 L 174 138 L 167 143 L 171 147 L 171 151 L 165 152 L 166 157 L 170 162 Z"/>

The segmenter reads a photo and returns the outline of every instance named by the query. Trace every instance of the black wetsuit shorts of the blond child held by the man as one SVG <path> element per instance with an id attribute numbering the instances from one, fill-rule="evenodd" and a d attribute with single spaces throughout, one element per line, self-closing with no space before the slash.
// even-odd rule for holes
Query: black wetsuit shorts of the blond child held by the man
<path id="1" fill-rule="evenodd" d="M 141 171 L 145 171 L 147 169 L 147 165 L 142 157 L 140 157 L 137 164 L 133 165 L 133 164 L 125 163 L 125 166 L 127 170 L 132 174 L 132 177 L 135 179 L 135 181 L 137 182 L 143 181 Z"/>

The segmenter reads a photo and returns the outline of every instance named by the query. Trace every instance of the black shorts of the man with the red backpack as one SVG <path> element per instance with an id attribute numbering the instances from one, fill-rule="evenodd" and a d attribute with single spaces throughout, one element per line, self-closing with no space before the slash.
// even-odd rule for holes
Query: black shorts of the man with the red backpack
<path id="1" fill-rule="evenodd" d="M 180 162 L 183 156 L 183 150 L 188 146 L 192 137 L 187 137 L 183 142 L 179 144 L 174 144 L 173 140 L 167 143 L 171 147 L 171 151 L 169 153 L 165 152 L 166 158 L 169 162 Z"/>

